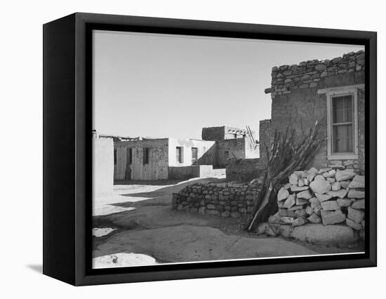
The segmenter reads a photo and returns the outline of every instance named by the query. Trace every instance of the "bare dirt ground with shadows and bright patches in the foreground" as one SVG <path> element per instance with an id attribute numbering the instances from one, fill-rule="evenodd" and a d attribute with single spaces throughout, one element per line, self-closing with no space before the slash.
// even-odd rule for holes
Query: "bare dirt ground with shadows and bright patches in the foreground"
<path id="1" fill-rule="evenodd" d="M 241 231 L 241 220 L 171 209 L 172 193 L 193 182 L 118 181 L 114 196 L 93 203 L 93 267 L 267 258 L 354 251 Z"/>

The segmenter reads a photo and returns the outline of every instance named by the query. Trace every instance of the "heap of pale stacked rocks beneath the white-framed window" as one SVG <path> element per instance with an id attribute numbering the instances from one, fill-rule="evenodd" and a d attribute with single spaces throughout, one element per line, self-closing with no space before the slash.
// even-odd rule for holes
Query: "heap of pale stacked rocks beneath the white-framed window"
<path id="1" fill-rule="evenodd" d="M 279 211 L 270 223 L 304 225 L 307 222 L 333 225 L 343 223 L 364 229 L 364 175 L 340 166 L 295 171 L 277 194 Z M 362 231 L 362 233 L 364 233 Z"/>

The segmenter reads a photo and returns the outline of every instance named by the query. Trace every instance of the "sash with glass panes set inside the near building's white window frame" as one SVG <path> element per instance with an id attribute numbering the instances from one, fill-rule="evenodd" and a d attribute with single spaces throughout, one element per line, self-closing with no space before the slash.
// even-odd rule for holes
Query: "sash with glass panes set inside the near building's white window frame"
<path id="1" fill-rule="evenodd" d="M 354 152 L 354 117 L 352 95 L 331 97 L 332 152 Z"/>

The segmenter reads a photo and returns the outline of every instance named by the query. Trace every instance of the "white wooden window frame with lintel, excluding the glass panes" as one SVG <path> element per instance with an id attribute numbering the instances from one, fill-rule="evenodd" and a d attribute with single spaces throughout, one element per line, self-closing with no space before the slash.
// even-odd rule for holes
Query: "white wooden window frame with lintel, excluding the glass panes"
<path id="1" fill-rule="evenodd" d="M 334 88 L 319 89 L 318 94 L 326 94 L 327 103 L 327 159 L 328 160 L 354 160 L 358 159 L 358 89 L 364 88 L 364 84 L 351 86 L 340 86 Z M 334 153 L 333 152 L 333 126 L 332 126 L 332 101 L 334 97 L 352 95 L 354 108 L 353 131 L 354 131 L 354 152 Z"/>

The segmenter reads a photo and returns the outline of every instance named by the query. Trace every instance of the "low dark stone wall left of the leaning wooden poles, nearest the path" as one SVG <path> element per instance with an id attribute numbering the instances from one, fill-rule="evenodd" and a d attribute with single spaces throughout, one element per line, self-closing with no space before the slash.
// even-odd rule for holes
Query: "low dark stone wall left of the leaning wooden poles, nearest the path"
<path id="1" fill-rule="evenodd" d="M 224 182 L 189 185 L 173 194 L 172 207 L 180 211 L 222 217 L 248 217 L 260 192 L 260 185 Z"/>

